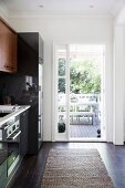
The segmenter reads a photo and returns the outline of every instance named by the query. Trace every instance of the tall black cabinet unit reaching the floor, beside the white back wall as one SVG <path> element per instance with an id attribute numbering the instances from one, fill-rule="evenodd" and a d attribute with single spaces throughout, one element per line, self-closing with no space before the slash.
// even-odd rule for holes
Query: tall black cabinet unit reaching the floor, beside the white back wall
<path id="1" fill-rule="evenodd" d="M 37 154 L 42 144 L 42 70 L 43 40 L 38 32 L 18 33 L 18 74 L 24 87 L 20 105 L 30 105 L 28 118 L 28 154 Z M 17 94 L 18 95 L 18 94 Z"/>

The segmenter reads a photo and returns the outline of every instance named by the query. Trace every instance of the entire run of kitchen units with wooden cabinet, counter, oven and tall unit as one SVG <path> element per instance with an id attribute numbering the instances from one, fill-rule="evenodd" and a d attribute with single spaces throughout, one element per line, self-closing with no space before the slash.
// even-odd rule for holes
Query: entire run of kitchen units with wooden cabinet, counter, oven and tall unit
<path id="1" fill-rule="evenodd" d="M 0 19 L 0 188 L 42 144 L 43 41 Z"/>

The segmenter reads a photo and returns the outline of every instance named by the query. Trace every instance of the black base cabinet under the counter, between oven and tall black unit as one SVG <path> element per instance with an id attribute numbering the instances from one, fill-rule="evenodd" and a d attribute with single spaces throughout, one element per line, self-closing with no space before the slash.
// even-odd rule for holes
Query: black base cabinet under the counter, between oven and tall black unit
<path id="1" fill-rule="evenodd" d="M 20 136 L 20 156 L 23 158 L 28 153 L 28 117 L 29 117 L 29 111 L 23 112 L 20 115 L 20 129 L 21 129 L 21 136 Z"/>

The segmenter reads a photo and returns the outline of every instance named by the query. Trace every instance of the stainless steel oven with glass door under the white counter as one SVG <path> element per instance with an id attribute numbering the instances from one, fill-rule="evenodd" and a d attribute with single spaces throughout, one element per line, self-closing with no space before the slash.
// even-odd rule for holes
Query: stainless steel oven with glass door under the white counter
<path id="1" fill-rule="evenodd" d="M 15 169 L 20 160 L 20 116 L 12 117 L 0 127 L 0 142 L 8 145 L 8 177 Z"/>

